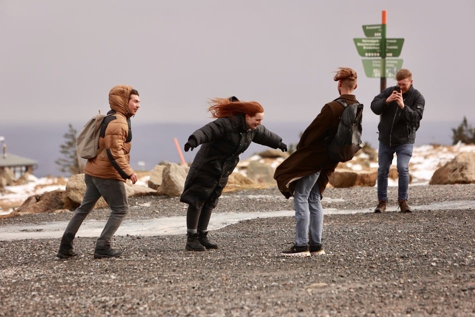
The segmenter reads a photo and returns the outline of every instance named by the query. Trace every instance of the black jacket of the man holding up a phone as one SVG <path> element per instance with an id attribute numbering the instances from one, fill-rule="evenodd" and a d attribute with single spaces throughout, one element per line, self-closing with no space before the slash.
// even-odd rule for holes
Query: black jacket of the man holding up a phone
<path id="1" fill-rule="evenodd" d="M 371 110 L 380 115 L 378 124 L 378 140 L 388 146 L 411 144 L 416 140 L 416 131 L 419 128 L 420 121 L 424 112 L 426 100 L 424 96 L 415 89 L 411 88 L 403 93 L 403 110 L 396 101 L 386 103 L 395 86 L 384 89 L 371 102 Z"/>

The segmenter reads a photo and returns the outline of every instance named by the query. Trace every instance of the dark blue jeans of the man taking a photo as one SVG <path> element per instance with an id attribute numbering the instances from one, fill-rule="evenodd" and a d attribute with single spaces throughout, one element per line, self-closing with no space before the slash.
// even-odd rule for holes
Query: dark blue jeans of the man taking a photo
<path id="1" fill-rule="evenodd" d="M 398 199 L 408 199 L 409 160 L 413 155 L 414 144 L 388 146 L 379 142 L 378 149 L 378 200 L 388 200 L 389 168 L 393 162 L 394 153 L 397 156 L 399 173 Z"/>

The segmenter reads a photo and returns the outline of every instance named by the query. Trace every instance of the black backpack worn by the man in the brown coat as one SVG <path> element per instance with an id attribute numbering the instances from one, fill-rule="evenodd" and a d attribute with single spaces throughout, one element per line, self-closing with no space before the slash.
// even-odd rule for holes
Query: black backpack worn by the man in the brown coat
<path id="1" fill-rule="evenodd" d="M 333 162 L 346 162 L 355 156 L 365 143 L 361 140 L 363 130 L 363 104 L 348 104 L 344 99 L 338 98 L 345 109 L 340 116 L 340 122 L 335 134 L 331 133 L 326 142 L 327 153 Z"/>

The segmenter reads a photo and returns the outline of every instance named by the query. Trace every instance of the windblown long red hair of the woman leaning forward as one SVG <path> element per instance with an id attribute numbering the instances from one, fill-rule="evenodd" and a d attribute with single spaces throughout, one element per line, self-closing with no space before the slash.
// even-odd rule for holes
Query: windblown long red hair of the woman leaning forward
<path id="1" fill-rule="evenodd" d="M 208 111 L 211 112 L 212 117 L 232 117 L 238 113 L 255 116 L 256 113 L 264 112 L 264 108 L 257 101 L 231 101 L 229 99 L 231 98 L 210 99 L 208 102 L 210 104 Z M 234 98 L 232 99 L 235 100 Z"/>

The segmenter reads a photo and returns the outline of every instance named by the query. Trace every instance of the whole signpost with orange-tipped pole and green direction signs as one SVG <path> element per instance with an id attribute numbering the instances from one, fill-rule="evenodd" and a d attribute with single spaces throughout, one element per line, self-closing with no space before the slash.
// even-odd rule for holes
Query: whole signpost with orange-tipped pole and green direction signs
<path id="1" fill-rule="evenodd" d="M 401 55 L 404 38 L 386 38 L 386 20 L 386 10 L 383 10 L 381 24 L 363 25 L 366 38 L 353 38 L 360 56 L 381 57 L 363 59 L 366 76 L 381 78 L 381 91 L 386 88 L 386 78 L 396 76 L 396 72 L 403 66 L 402 59 L 392 57 Z"/>

